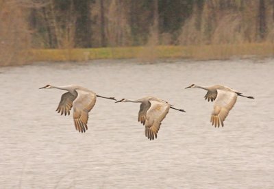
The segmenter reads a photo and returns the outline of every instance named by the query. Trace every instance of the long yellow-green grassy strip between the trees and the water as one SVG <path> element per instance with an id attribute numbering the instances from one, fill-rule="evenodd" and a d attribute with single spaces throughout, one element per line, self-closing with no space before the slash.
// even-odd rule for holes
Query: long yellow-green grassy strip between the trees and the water
<path id="1" fill-rule="evenodd" d="M 88 61 L 98 59 L 138 58 L 151 61 L 158 58 L 187 58 L 192 60 L 225 60 L 232 57 L 258 58 L 274 55 L 272 43 L 240 45 L 115 47 L 92 49 L 33 49 L 29 51 L 32 62 Z"/>

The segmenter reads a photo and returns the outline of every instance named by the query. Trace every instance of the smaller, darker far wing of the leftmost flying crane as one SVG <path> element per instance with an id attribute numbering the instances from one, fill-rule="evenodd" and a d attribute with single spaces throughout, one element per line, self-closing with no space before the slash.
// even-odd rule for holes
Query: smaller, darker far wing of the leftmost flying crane
<path id="1" fill-rule="evenodd" d="M 75 100 L 75 98 L 75 96 L 71 95 L 71 92 L 64 93 L 61 97 L 61 101 L 58 105 L 58 108 L 55 111 L 58 111 L 58 113 L 61 112 L 61 115 L 69 115 L 69 110 L 71 110 L 71 108 L 73 107 L 73 101 Z"/>

